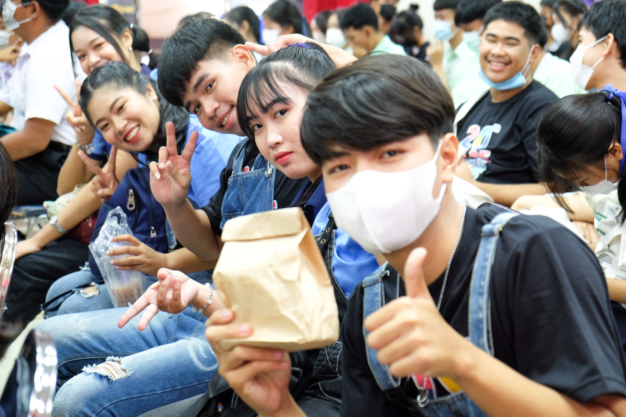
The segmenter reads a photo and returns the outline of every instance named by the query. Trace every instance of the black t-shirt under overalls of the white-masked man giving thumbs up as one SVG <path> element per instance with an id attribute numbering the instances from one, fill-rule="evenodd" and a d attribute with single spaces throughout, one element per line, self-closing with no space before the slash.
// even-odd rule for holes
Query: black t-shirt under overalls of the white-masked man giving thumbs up
<path id="1" fill-rule="evenodd" d="M 468 336 L 469 283 L 481 226 L 497 213 L 494 208 L 467 209 L 450 267 L 440 311 L 463 336 Z M 383 280 L 387 303 L 396 298 L 396 277 L 391 271 Z M 435 300 L 442 281 L 440 276 L 429 286 Z M 399 283 L 403 296 L 402 279 Z M 592 251 L 568 229 L 543 216 L 510 219 L 500 233 L 490 294 L 496 358 L 581 403 L 602 394 L 626 396 L 622 346 L 604 274 Z M 389 401 L 371 374 L 362 331 L 362 298 L 359 285 L 341 325 L 341 416 L 413 416 Z M 416 395 L 409 379 L 403 379 L 401 386 Z"/>

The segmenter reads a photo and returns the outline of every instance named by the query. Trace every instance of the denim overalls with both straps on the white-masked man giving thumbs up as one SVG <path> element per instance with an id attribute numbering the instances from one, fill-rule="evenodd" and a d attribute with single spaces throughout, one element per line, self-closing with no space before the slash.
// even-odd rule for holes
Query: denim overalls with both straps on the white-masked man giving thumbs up
<path id="1" fill-rule="evenodd" d="M 489 293 L 491 266 L 498 243 L 498 235 L 506 222 L 514 216 L 516 216 L 514 213 L 500 213 L 491 220 L 491 223 L 483 226 L 470 284 L 468 339 L 492 356 L 493 340 L 491 338 L 491 299 Z M 389 273 L 386 271 L 386 265 L 384 264 L 375 273 L 363 280 L 363 319 L 384 304 L 382 278 Z M 363 326 L 364 338 L 367 338 L 367 334 L 369 331 Z M 426 391 L 424 388 L 418 388 L 418 398 L 409 398 L 399 388 L 401 379 L 391 374 L 389 366 L 379 363 L 376 356 L 377 351 L 366 346 L 366 352 L 367 362 L 372 374 L 374 374 L 376 383 L 385 392 L 387 398 L 392 401 L 398 401 L 424 417 L 486 417 L 486 414 L 463 391 L 434 398 L 431 389 Z M 421 381 L 418 382 L 421 383 Z"/>

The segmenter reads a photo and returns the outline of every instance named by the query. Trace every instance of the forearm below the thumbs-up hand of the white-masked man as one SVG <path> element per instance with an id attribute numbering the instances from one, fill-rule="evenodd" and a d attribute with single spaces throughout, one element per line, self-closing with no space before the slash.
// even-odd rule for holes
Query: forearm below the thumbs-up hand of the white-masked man
<path id="1" fill-rule="evenodd" d="M 610 407 L 593 401 L 578 403 L 526 378 L 476 346 L 460 354 L 454 382 L 490 417 L 623 416 L 615 410 L 623 409 L 626 399 L 611 396 L 615 403 Z"/>

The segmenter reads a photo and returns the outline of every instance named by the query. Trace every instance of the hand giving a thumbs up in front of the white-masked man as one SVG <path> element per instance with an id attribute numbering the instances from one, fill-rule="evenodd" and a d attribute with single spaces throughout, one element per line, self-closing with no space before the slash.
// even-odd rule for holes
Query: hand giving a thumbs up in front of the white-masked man
<path id="1" fill-rule="evenodd" d="M 414 249 L 404 266 L 406 296 L 370 314 L 367 344 L 395 376 L 421 374 L 454 379 L 463 352 L 473 345 L 443 319 L 424 279 L 426 249 Z M 469 346 L 468 346 L 469 345 Z"/>

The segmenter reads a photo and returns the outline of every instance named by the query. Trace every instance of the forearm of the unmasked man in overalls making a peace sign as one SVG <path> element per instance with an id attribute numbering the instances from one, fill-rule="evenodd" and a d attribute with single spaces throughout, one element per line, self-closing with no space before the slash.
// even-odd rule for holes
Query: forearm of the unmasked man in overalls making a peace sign
<path id="1" fill-rule="evenodd" d="M 182 204 L 164 204 L 172 231 L 185 248 L 203 261 L 214 261 L 220 255 L 217 238 L 207 213 L 196 210 L 188 199 Z"/>

